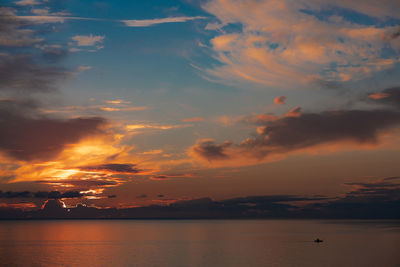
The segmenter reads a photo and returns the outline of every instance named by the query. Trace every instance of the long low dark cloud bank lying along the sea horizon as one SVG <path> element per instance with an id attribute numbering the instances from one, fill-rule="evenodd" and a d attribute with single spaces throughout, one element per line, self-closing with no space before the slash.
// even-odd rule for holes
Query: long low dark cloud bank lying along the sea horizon
<path id="1" fill-rule="evenodd" d="M 400 219 L 400 177 L 373 182 L 348 183 L 353 189 L 342 197 L 301 197 L 292 195 L 250 196 L 215 201 L 210 198 L 176 201 L 167 206 L 152 205 L 126 209 L 97 209 L 78 206 L 62 208 L 57 199 L 83 197 L 78 193 L 6 192 L 3 198 L 29 200 L 48 196 L 49 209 L 22 211 L 0 209 L 1 219 Z M 52 197 L 50 197 L 52 196 Z M 114 197 L 114 196 L 113 196 Z M 138 196 L 145 198 L 146 195 Z M 49 204 L 50 203 L 50 204 Z M 57 204 L 58 203 L 58 204 Z M 58 207 L 58 208 L 57 208 Z"/>

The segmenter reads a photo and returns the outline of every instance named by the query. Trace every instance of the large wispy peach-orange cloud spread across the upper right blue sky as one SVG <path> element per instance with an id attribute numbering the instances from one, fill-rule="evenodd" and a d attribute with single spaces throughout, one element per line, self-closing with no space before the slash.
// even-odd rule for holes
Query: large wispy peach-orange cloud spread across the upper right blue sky
<path id="1" fill-rule="evenodd" d="M 371 18 L 398 18 L 393 10 L 399 11 L 400 4 L 388 0 L 388 6 L 377 7 L 372 0 L 347 2 L 207 1 L 203 8 L 220 25 L 210 40 L 220 64 L 204 69 L 204 74 L 230 85 L 305 88 L 317 81 L 358 81 L 397 66 L 398 38 L 383 36 L 397 36 L 398 27 L 357 23 L 343 10 L 367 12 Z M 385 49 L 393 53 L 388 56 Z"/>

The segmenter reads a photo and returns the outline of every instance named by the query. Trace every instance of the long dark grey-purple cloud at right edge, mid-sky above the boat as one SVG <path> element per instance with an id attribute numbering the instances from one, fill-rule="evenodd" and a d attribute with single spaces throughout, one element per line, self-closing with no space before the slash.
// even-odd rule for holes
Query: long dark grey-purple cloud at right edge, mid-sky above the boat
<path id="1" fill-rule="evenodd" d="M 261 133 L 262 138 L 250 139 L 243 145 L 293 150 L 341 140 L 375 143 L 380 130 L 399 123 L 400 113 L 386 110 L 306 113 L 268 122 Z"/>

